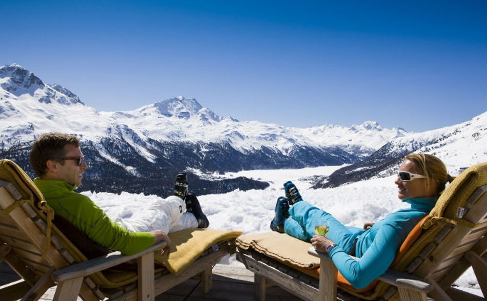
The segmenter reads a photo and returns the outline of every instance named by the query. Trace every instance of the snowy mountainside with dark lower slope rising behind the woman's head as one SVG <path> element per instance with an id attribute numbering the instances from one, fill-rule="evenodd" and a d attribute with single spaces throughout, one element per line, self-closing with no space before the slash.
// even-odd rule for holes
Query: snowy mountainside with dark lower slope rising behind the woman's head
<path id="1" fill-rule="evenodd" d="M 403 156 L 411 152 L 439 157 L 455 176 L 466 167 L 487 161 L 486 145 L 487 112 L 484 112 L 460 124 L 394 139 L 368 158 L 336 170 L 329 178 L 317 179 L 314 188 L 390 176 L 397 171 Z"/>

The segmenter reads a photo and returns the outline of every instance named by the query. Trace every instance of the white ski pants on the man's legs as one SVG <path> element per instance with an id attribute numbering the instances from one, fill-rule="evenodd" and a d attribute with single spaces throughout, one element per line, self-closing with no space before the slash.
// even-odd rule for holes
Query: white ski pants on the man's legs
<path id="1" fill-rule="evenodd" d="M 150 205 L 149 213 L 141 219 L 117 218 L 115 222 L 132 232 L 162 230 L 170 233 L 198 227 L 193 213 L 186 212 L 185 201 L 176 196 L 155 201 Z"/>

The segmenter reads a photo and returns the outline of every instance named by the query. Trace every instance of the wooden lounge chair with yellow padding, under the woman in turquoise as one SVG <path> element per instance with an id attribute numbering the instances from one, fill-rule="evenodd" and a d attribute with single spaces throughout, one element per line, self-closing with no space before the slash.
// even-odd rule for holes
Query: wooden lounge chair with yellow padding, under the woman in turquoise
<path id="1" fill-rule="evenodd" d="M 401 246 L 391 268 L 367 290 L 347 283 L 327 254 L 305 247 L 319 257 L 320 272 L 297 267 L 279 247 L 276 239 L 289 246 L 297 239 L 286 234 L 254 234 L 237 239 L 237 259 L 255 273 L 255 294 L 265 300 L 266 286 L 278 285 L 305 300 L 482 300 L 452 287 L 470 266 L 484 296 L 487 295 L 487 163 L 463 171 L 445 189 L 430 216 L 423 219 Z M 250 235 L 249 235 L 250 236 Z M 418 236 L 412 238 L 412 236 Z M 299 243 L 304 243 L 299 241 Z M 305 243 L 307 244 L 307 243 Z M 300 252 L 306 252 L 303 248 Z M 312 257 L 314 258 L 314 257 Z M 313 267 L 312 267 L 313 268 Z M 338 281 L 337 281 L 338 278 Z"/>

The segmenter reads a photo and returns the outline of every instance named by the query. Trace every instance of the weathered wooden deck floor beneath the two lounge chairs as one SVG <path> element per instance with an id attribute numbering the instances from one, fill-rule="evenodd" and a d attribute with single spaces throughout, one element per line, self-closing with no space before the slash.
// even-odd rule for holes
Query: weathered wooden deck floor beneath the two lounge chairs
<path id="1" fill-rule="evenodd" d="M 15 281 L 15 279 L 18 279 L 15 272 L 5 263 L 2 263 L 0 265 L 0 286 Z M 54 288 L 51 288 L 40 300 L 52 300 L 53 296 Z M 228 266 L 218 264 L 213 268 L 213 288 L 210 292 L 206 294 L 202 293 L 199 281 L 196 279 L 188 279 L 186 282 L 175 286 L 155 299 L 156 301 L 254 300 L 254 274 L 245 269 L 243 265 Z M 78 298 L 78 300 L 82 301 L 81 298 Z M 301 299 L 279 287 L 270 287 L 267 289 L 266 300 L 294 301 Z"/>

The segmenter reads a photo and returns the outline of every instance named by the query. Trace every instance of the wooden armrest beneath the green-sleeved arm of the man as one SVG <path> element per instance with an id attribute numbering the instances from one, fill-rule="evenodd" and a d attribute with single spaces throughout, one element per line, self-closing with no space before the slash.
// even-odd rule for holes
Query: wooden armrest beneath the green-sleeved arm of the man
<path id="1" fill-rule="evenodd" d="M 96 257 L 89 261 L 80 262 L 69 267 L 56 270 L 52 273 L 51 278 L 56 282 L 63 282 L 72 278 L 86 277 L 93 273 L 106 270 L 124 262 L 137 259 L 138 257 L 144 256 L 148 253 L 162 249 L 165 246 L 165 242 L 160 242 L 133 255 L 122 255 L 119 251 L 112 252 L 104 256 Z"/>

